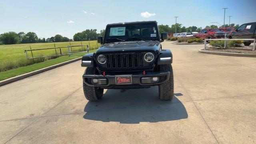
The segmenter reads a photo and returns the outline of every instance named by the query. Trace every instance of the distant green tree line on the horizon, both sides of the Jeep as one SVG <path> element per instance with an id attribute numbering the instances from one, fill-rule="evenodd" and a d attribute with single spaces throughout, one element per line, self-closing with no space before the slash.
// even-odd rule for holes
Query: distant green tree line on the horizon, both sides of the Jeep
<path id="1" fill-rule="evenodd" d="M 238 28 L 239 24 L 230 24 L 232 28 Z M 177 27 L 177 32 L 175 32 Z M 228 24 L 220 26 L 220 28 L 229 27 Z M 200 32 L 202 27 L 189 26 L 185 27 L 182 24 L 172 24 L 168 25 L 159 25 L 159 32 L 168 32 L 168 34 L 181 33 L 181 32 Z M 206 26 L 205 28 L 218 28 L 216 25 Z M 1 44 L 27 44 L 27 43 L 40 43 L 40 42 L 69 42 L 69 41 L 87 41 L 87 40 L 97 40 L 97 36 L 104 36 L 105 30 L 100 30 L 100 33 L 97 33 L 96 29 L 87 29 L 82 32 L 74 34 L 73 39 L 69 39 L 60 34 L 56 34 L 50 38 L 38 38 L 34 32 L 5 32 L 0 34 L 0 45 Z"/>

